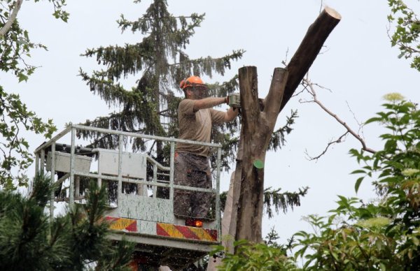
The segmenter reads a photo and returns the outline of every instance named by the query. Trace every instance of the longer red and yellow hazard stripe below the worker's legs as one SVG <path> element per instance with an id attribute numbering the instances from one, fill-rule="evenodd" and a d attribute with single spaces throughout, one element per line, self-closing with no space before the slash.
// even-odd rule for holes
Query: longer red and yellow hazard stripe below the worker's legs
<path id="1" fill-rule="evenodd" d="M 207 228 L 195 228 L 189 226 L 179 226 L 166 223 L 156 224 L 156 234 L 160 236 L 200 240 L 200 241 L 217 241 L 217 230 Z"/>

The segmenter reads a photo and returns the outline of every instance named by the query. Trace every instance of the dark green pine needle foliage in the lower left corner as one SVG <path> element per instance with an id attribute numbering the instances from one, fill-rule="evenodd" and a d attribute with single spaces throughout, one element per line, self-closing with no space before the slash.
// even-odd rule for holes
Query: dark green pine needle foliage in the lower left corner
<path id="1" fill-rule="evenodd" d="M 0 191 L 0 270 L 130 270 L 133 245 L 106 239 L 106 190 L 92 184 L 86 205 L 50 221 L 45 207 L 55 191 L 37 175 L 29 196 Z"/>

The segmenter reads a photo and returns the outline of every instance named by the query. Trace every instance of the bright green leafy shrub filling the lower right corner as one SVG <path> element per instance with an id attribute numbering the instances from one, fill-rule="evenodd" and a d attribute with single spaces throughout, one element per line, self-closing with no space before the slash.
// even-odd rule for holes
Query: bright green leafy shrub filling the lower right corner
<path id="1" fill-rule="evenodd" d="M 371 154 L 351 149 L 363 163 L 353 174 L 358 191 L 365 177 L 379 198 L 363 203 L 339 196 L 329 217 L 309 216 L 314 233 L 294 236 L 295 258 L 304 270 L 419 270 L 420 268 L 420 112 L 400 94 L 386 95 L 384 112 L 367 120 L 388 133 L 383 149 Z M 376 179 L 376 180 L 375 180 Z"/>

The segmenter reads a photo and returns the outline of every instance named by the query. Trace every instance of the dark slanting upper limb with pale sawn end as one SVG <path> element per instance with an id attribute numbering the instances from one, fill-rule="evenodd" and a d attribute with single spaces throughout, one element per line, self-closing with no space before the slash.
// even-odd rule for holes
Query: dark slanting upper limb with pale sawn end
<path id="1" fill-rule="evenodd" d="M 341 15 L 332 8 L 326 7 L 309 27 L 307 34 L 287 65 L 288 82 L 284 90 L 280 110 L 293 96 L 304 75 L 309 71 L 328 36 L 341 20 Z"/>

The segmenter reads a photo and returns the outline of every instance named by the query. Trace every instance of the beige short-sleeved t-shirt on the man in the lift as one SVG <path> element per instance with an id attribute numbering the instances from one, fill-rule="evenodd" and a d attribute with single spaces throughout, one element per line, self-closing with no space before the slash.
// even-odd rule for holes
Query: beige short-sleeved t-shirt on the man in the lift
<path id="1" fill-rule="evenodd" d="M 194 100 L 183 99 L 178 107 L 179 138 L 210 142 L 211 124 L 224 122 L 225 112 L 205 108 L 194 112 Z M 209 156 L 209 147 L 177 143 L 176 152 Z"/>

